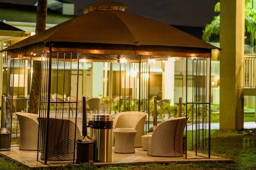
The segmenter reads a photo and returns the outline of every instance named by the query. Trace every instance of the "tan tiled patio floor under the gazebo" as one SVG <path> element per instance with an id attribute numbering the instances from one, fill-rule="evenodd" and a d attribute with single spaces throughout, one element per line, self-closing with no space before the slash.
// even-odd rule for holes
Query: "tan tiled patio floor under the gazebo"
<path id="1" fill-rule="evenodd" d="M 108 165 L 108 164 L 141 164 L 141 163 L 188 163 L 188 162 L 234 162 L 233 160 L 220 158 L 217 156 L 211 156 L 210 158 L 207 155 L 201 154 L 196 156 L 195 152 L 187 151 L 187 159 L 185 154 L 182 157 L 176 158 L 166 158 L 166 157 L 154 157 L 148 156 L 147 151 L 142 150 L 142 148 L 135 148 L 134 154 L 117 154 L 114 152 L 114 146 L 112 147 L 112 162 L 95 162 L 96 166 Z M 18 145 L 12 145 L 11 150 L 9 151 L 0 151 L 0 154 L 22 164 L 29 166 L 30 168 L 39 168 L 39 167 L 56 167 L 64 166 L 67 163 L 72 161 L 47 161 L 47 164 L 44 164 L 44 160 L 37 161 L 37 151 L 24 151 L 19 150 Z"/>

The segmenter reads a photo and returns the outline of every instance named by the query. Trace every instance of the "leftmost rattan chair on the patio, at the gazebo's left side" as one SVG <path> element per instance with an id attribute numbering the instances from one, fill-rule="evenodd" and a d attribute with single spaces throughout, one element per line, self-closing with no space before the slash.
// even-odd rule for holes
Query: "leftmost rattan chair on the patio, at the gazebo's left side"
<path id="1" fill-rule="evenodd" d="M 16 112 L 20 125 L 20 150 L 37 150 L 38 115 Z"/>

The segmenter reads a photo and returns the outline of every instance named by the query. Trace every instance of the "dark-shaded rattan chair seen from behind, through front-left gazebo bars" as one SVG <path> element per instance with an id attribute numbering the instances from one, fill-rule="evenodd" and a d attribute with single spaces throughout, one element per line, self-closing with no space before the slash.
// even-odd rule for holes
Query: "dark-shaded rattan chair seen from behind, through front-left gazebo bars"
<path id="1" fill-rule="evenodd" d="M 40 148 L 42 149 L 40 158 L 44 160 L 46 151 L 45 132 L 47 118 L 38 118 L 38 120 L 40 120 L 40 136 L 42 139 L 40 141 Z M 78 126 L 75 126 L 74 121 L 49 118 L 47 160 L 73 160 L 73 156 L 75 155 L 76 157 L 76 149 L 74 154 L 74 147 L 76 146 L 75 142 L 80 136 L 80 130 Z"/>

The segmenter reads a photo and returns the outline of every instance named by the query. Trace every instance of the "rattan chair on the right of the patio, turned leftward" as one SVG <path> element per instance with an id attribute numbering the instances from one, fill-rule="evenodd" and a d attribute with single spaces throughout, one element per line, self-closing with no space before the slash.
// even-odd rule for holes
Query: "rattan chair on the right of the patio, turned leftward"
<path id="1" fill-rule="evenodd" d="M 148 155 L 161 157 L 183 156 L 182 142 L 186 117 L 177 117 L 160 123 L 148 136 Z"/>

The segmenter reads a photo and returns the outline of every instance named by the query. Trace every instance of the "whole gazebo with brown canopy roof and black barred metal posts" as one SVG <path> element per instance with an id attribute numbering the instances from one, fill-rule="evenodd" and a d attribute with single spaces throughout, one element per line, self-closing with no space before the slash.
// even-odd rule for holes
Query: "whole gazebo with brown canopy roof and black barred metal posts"
<path id="1" fill-rule="evenodd" d="M 71 91 L 71 81 L 77 81 L 76 94 L 78 94 L 78 84 L 81 82 L 78 82 L 78 78 L 72 79 L 71 74 L 78 76 L 79 68 L 84 61 L 110 63 L 108 75 L 110 87 L 112 84 L 111 63 L 119 63 L 120 81 L 116 87 L 120 89 L 120 95 L 121 89 L 126 91 L 125 89 L 129 88 L 128 97 L 121 99 L 128 102 L 128 107 L 125 107 L 127 110 L 124 111 L 138 110 L 149 113 L 148 92 L 150 84 L 144 79 L 150 73 L 148 61 L 153 59 L 154 61 L 167 62 L 172 59 L 184 59 L 186 60 L 186 68 L 193 68 L 193 92 L 188 95 L 187 89 L 190 85 L 186 84 L 187 97 L 185 99 L 186 108 L 192 107 L 193 109 L 192 113 L 186 113 L 186 116 L 192 119 L 192 123 L 196 125 L 195 130 L 198 132 L 194 137 L 191 150 L 196 150 L 195 153 L 199 150 L 206 150 L 208 157 L 210 157 L 210 124 L 209 131 L 207 131 L 206 123 L 210 122 L 211 51 L 212 49 L 220 49 L 172 26 L 125 12 L 124 9 L 128 7 L 125 4 L 100 0 L 82 8 L 80 11 L 83 11 L 84 14 L 81 16 L 58 24 L 2 50 L 8 52 L 10 73 L 8 81 L 10 89 L 7 92 L 7 106 L 10 107 L 7 107 L 7 119 L 12 117 L 13 85 L 11 84 L 14 83 L 14 76 L 11 75 L 15 72 L 14 61 L 23 62 L 25 60 L 30 63 L 31 68 L 34 60 L 42 61 L 40 111 L 36 114 L 49 121 L 50 105 L 69 105 L 69 111 L 71 105 L 76 105 L 75 108 L 78 108 L 78 95 L 76 95 L 76 101 L 51 101 L 50 93 L 51 89 L 56 89 L 57 94 L 61 94 L 64 99 L 64 89 Z M 57 63 L 57 75 L 54 79 L 52 77 L 53 62 Z M 58 69 L 60 64 L 64 65 L 64 71 Z M 24 67 L 27 67 L 26 64 Z M 135 68 L 138 70 L 138 77 L 134 78 L 129 75 L 126 79 L 126 76 L 121 75 L 121 70 L 131 72 Z M 29 78 L 27 80 L 27 92 L 29 91 Z M 135 83 L 137 78 L 138 82 Z M 122 79 L 129 83 L 123 83 Z M 130 90 L 130 86 L 136 86 L 136 95 L 134 91 Z M 111 88 L 108 93 L 109 96 L 112 95 Z M 188 99 L 189 97 L 190 99 Z M 134 107 L 134 103 L 138 103 L 138 107 Z M 77 117 L 78 109 L 75 109 L 74 113 Z M 54 118 L 57 117 L 56 110 Z M 68 117 L 70 117 L 70 112 Z M 39 123 L 40 129 L 45 130 L 44 136 L 40 136 L 41 140 L 46 138 L 45 141 L 48 141 L 48 134 L 50 133 L 48 126 L 47 123 L 45 125 Z M 75 139 L 76 136 L 74 141 Z M 38 142 L 38 152 L 44 152 L 44 147 L 46 148 L 44 158 L 46 164 L 48 144 L 47 142 L 46 144 Z M 62 150 L 61 154 L 68 153 Z M 75 152 L 73 158 L 75 161 Z"/>

